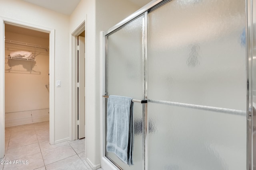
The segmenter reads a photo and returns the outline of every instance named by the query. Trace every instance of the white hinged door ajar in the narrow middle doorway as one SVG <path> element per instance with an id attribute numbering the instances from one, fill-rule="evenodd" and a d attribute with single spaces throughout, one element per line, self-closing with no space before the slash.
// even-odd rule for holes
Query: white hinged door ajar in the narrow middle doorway
<path id="1" fill-rule="evenodd" d="M 85 137 L 85 37 L 78 36 L 78 139 Z"/>

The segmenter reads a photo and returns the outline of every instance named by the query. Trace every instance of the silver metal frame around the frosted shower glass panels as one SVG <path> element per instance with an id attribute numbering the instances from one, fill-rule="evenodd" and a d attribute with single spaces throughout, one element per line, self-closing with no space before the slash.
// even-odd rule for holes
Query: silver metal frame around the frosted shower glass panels
<path id="1" fill-rule="evenodd" d="M 147 89 L 147 83 L 148 83 L 148 13 L 157 9 L 158 7 L 166 4 L 167 2 L 170 2 L 171 0 L 153 0 L 146 6 L 140 8 L 138 11 L 134 12 L 132 15 L 127 17 L 126 19 L 120 21 L 118 24 L 114 25 L 112 28 L 108 29 L 108 31 L 105 31 L 102 33 L 102 39 L 103 39 L 103 46 L 104 46 L 104 85 L 103 85 L 103 95 L 108 95 L 106 93 L 106 85 L 107 85 L 107 36 L 111 33 L 114 33 L 118 29 L 122 28 L 124 25 L 130 23 L 131 21 L 135 20 L 136 18 L 144 15 L 144 31 L 143 31 L 143 50 L 142 50 L 142 57 L 144 57 L 144 99 L 147 100 L 148 96 L 148 89 Z M 256 162 L 253 162 L 253 125 L 256 126 L 256 123 L 253 122 L 253 106 L 252 106 L 252 95 L 253 95 L 253 71 L 256 68 L 253 68 L 252 61 L 253 59 L 256 59 L 256 47 L 254 49 L 254 46 L 256 46 L 256 14 L 253 11 L 253 9 L 256 8 L 256 0 L 245 0 L 246 2 L 246 81 L 248 84 L 248 88 L 246 89 L 247 93 L 247 109 L 246 109 L 246 115 L 247 115 L 247 170 L 253 170 L 253 165 L 256 166 Z M 246 83 L 246 82 L 245 82 Z M 106 100 L 103 102 L 103 110 L 105 111 L 106 115 Z M 144 161 L 144 170 L 148 170 L 148 111 L 147 111 L 147 104 L 144 104 L 144 107 L 142 109 L 143 114 L 143 121 L 142 121 L 142 127 L 143 129 L 143 161 Z M 103 118 L 103 156 L 109 160 L 106 157 L 106 118 Z M 255 130 L 256 131 L 256 130 Z M 114 164 L 109 160 L 110 163 L 112 163 L 116 168 L 120 168 L 118 165 Z M 120 168 L 121 169 L 121 168 Z"/>

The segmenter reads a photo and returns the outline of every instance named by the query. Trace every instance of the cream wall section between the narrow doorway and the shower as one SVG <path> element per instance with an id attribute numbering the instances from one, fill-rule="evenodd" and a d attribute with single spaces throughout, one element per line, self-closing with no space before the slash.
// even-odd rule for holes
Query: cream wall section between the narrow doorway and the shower
<path id="1" fill-rule="evenodd" d="M 120 0 L 82 0 L 70 16 L 70 33 L 86 20 L 86 152 L 87 162 L 100 165 L 102 111 L 102 56 L 100 31 L 107 31 L 136 10 L 130 2 Z"/>

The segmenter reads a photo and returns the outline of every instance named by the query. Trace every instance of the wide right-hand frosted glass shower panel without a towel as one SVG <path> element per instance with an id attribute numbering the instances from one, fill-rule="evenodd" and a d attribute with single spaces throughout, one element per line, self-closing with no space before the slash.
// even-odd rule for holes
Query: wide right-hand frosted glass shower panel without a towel
<path id="1" fill-rule="evenodd" d="M 148 167 L 246 170 L 244 0 L 148 14 Z"/>

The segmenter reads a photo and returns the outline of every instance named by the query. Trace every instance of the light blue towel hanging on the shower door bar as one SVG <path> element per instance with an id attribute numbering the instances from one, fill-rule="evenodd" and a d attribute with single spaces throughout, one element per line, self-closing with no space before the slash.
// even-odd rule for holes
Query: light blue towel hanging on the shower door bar
<path id="1" fill-rule="evenodd" d="M 132 98 L 110 95 L 107 109 L 107 151 L 114 152 L 131 166 L 134 144 Z"/>

